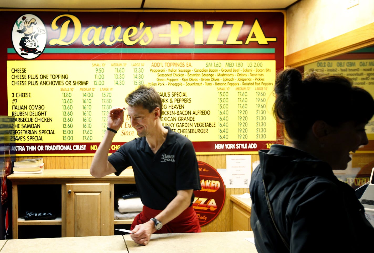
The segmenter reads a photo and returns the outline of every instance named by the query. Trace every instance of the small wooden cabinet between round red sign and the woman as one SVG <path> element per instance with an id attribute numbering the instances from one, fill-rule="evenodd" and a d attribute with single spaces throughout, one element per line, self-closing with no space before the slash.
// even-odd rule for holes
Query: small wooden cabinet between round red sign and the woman
<path id="1" fill-rule="evenodd" d="M 232 202 L 233 231 L 248 231 L 251 229 L 251 198 L 240 198 L 240 195 L 230 195 Z"/>

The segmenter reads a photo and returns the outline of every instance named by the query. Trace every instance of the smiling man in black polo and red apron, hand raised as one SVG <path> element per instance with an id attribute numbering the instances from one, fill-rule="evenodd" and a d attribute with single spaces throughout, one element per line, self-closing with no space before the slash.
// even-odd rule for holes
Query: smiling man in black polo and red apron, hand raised
<path id="1" fill-rule="evenodd" d="M 126 97 L 130 123 L 138 136 L 108 157 L 114 135 L 123 123 L 125 108 L 113 108 L 108 127 L 91 164 L 101 178 L 134 169 L 144 204 L 131 225 L 135 243 L 146 245 L 151 234 L 201 232 L 192 208 L 193 191 L 201 189 L 196 154 L 190 140 L 161 123 L 162 100 L 153 87 L 139 86 Z"/>

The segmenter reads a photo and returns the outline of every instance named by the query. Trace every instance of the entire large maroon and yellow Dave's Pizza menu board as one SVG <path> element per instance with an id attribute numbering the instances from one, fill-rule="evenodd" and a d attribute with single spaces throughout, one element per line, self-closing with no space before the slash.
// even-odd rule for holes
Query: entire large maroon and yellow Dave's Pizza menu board
<path id="1" fill-rule="evenodd" d="M 156 89 L 163 126 L 196 154 L 282 143 L 272 113 L 282 11 L 96 13 L 1 12 L 0 114 L 14 117 L 17 156 L 95 154 L 108 112 L 140 85 Z M 137 137 L 125 111 L 108 152 Z"/>

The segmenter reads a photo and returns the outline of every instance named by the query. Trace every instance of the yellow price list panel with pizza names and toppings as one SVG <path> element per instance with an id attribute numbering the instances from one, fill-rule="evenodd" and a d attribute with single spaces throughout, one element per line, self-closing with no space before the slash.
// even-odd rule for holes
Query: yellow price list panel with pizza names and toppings
<path id="1" fill-rule="evenodd" d="M 7 77 L 18 142 L 100 142 L 141 84 L 160 94 L 162 124 L 193 142 L 276 140 L 275 61 L 7 61 Z M 136 137 L 125 111 L 114 142 Z"/>

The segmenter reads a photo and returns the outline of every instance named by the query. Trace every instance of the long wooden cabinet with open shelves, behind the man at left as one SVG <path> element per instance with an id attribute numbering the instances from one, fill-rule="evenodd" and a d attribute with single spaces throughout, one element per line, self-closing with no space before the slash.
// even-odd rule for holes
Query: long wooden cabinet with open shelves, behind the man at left
<path id="1" fill-rule="evenodd" d="M 114 225 L 132 223 L 132 219 L 114 219 L 115 185 L 135 184 L 132 169 L 100 179 L 88 169 L 44 170 L 8 178 L 13 188 L 13 239 L 114 235 Z M 25 211 L 36 208 L 52 210 L 58 217 L 22 218 Z"/>

